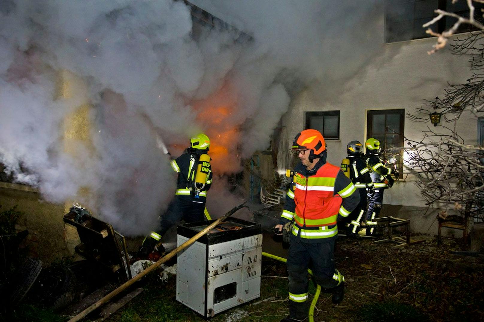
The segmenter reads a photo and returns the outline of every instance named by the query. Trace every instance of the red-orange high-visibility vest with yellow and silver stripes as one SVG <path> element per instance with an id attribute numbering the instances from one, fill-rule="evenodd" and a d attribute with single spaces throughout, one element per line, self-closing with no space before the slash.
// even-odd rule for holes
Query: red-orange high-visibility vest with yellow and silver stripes
<path id="1" fill-rule="evenodd" d="M 321 227 L 336 224 L 343 199 L 334 194 L 334 182 L 340 168 L 323 164 L 314 176 L 305 177 L 296 173 L 293 177 L 294 220 L 300 227 Z"/>

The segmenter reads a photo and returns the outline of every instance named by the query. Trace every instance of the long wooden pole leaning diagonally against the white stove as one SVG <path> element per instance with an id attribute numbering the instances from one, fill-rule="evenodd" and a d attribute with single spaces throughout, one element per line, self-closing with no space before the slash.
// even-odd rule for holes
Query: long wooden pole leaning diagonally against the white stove
<path id="1" fill-rule="evenodd" d="M 184 242 L 183 244 L 181 244 L 180 246 L 178 246 L 176 249 L 173 249 L 171 252 L 169 252 L 168 254 L 166 254 L 164 257 L 160 258 L 156 263 L 153 263 L 151 266 L 149 266 L 144 271 L 142 271 L 141 273 L 139 273 L 138 275 L 136 275 L 134 278 L 131 278 L 126 283 L 122 284 L 117 289 L 115 289 L 111 293 L 107 294 L 105 297 L 103 297 L 102 299 L 100 299 L 99 301 L 97 301 L 96 303 L 94 303 L 93 305 L 91 305 L 90 307 L 86 308 L 84 311 L 82 311 L 79 314 L 77 314 L 75 317 L 73 317 L 68 322 L 76 322 L 76 321 L 79 321 L 79 320 L 83 319 L 84 317 L 86 317 L 86 315 L 88 315 L 89 313 L 91 313 L 95 309 L 97 309 L 97 308 L 103 306 L 104 304 L 106 304 L 106 302 L 108 302 L 114 296 L 116 296 L 117 294 L 119 294 L 122 291 L 126 290 L 128 287 L 130 287 L 131 285 L 133 285 L 136 281 L 138 281 L 139 279 L 141 279 L 142 277 L 144 277 L 148 273 L 151 273 L 158 266 L 160 266 L 161 264 L 167 262 L 169 259 L 171 259 L 173 256 L 175 256 L 181 250 L 183 250 L 183 249 L 187 248 L 188 246 L 192 245 L 193 243 L 195 243 L 198 238 L 200 238 L 201 236 L 207 234 L 215 226 L 217 226 L 218 224 L 220 224 L 222 221 L 226 220 L 228 217 L 230 217 L 232 214 L 234 214 L 237 210 L 239 210 L 241 208 L 248 208 L 244 204 L 245 204 L 245 202 L 242 203 L 241 205 L 238 205 L 238 206 L 233 207 L 232 209 L 230 209 L 224 216 L 222 216 L 219 219 L 217 219 L 214 222 L 212 222 L 210 225 L 208 225 L 201 232 L 199 232 L 198 234 L 196 234 L 192 238 L 188 239 L 186 242 Z"/>

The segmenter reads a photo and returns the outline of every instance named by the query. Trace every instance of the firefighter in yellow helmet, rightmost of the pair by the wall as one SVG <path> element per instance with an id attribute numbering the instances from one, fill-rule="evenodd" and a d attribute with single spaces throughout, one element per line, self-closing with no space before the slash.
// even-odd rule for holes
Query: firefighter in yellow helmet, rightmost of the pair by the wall
<path id="1" fill-rule="evenodd" d="M 378 218 L 383 204 L 383 192 L 385 189 L 392 188 L 394 180 L 390 176 L 392 169 L 385 167 L 380 157 L 380 141 L 371 137 L 366 140 L 365 147 L 366 164 L 370 171 L 371 180 L 373 181 L 373 188 L 368 189 L 367 193 L 368 211 L 366 212 L 365 218 L 365 224 L 367 226 L 365 234 L 371 236 L 377 224 L 374 220 Z M 398 178 L 398 172 L 395 171 L 394 176 Z"/>

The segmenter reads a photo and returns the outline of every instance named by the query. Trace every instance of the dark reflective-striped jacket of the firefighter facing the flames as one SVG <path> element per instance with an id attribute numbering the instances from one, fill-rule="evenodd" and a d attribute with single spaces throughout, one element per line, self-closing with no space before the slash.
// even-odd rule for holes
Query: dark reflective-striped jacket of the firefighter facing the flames
<path id="1" fill-rule="evenodd" d="M 175 192 L 175 195 L 191 196 L 192 198 L 194 197 L 194 182 L 197 172 L 198 159 L 203 153 L 206 153 L 206 150 L 189 148 L 181 156 L 170 162 L 173 171 L 178 173 L 177 190 Z M 212 168 L 210 168 L 209 170 L 209 175 L 207 176 L 205 187 L 201 189 L 199 198 L 196 199 L 197 201 L 205 202 L 207 197 L 207 191 L 210 189 L 211 185 Z"/>

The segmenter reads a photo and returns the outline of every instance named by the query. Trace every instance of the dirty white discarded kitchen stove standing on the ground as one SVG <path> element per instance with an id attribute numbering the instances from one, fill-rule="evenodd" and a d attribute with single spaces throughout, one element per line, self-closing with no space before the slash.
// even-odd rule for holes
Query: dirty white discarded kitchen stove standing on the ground
<path id="1" fill-rule="evenodd" d="M 179 225 L 177 245 L 213 221 Z M 177 256 L 177 301 L 204 317 L 260 296 L 260 224 L 226 220 Z"/>

